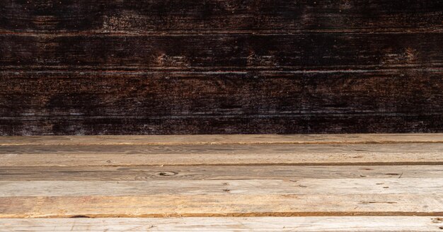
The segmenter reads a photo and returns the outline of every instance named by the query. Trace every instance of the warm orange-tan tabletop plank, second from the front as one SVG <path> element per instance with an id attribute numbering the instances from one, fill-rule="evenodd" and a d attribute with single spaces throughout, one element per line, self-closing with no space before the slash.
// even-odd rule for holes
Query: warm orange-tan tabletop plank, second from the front
<path id="1" fill-rule="evenodd" d="M 0 218 L 440 216 L 443 194 L 0 197 Z"/>

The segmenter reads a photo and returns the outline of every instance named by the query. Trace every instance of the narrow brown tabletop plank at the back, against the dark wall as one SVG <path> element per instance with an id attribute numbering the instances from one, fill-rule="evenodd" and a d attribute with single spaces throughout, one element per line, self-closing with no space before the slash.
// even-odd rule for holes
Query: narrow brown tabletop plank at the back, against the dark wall
<path id="1" fill-rule="evenodd" d="M 222 144 L 443 144 L 443 134 L 186 134 L 0 137 L 0 146 L 222 145 Z"/>

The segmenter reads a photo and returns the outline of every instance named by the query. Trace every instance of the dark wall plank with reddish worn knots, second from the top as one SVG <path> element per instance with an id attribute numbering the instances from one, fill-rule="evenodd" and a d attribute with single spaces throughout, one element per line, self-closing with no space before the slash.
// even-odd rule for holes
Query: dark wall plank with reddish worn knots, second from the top
<path id="1" fill-rule="evenodd" d="M 1 69 L 442 68 L 443 33 L 8 35 Z"/>

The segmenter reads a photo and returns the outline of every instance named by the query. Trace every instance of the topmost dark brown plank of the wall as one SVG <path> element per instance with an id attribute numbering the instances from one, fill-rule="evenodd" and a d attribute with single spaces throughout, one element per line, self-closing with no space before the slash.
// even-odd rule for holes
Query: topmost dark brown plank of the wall
<path id="1" fill-rule="evenodd" d="M 1 1 L 15 33 L 441 31 L 441 1 Z"/>

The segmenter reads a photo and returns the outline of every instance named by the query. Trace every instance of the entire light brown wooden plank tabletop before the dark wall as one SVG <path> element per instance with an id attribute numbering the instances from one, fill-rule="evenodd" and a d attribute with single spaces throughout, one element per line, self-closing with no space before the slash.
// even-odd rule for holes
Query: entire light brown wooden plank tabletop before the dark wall
<path id="1" fill-rule="evenodd" d="M 443 231 L 443 134 L 1 137 L 0 231 Z"/>

